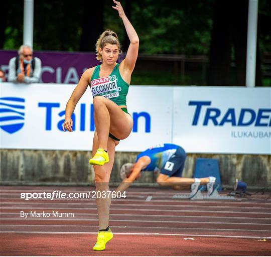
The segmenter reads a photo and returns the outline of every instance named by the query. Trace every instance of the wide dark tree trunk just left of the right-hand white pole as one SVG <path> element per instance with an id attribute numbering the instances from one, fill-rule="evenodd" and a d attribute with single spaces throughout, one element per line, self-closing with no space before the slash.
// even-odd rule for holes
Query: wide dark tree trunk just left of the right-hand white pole
<path id="1" fill-rule="evenodd" d="M 232 42 L 231 1 L 216 1 L 210 46 L 208 85 L 230 85 L 230 60 Z"/>

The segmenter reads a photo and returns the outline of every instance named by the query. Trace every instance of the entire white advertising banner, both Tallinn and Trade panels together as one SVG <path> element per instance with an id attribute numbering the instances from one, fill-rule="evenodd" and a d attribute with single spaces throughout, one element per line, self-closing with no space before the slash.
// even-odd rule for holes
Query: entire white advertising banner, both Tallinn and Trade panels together
<path id="1" fill-rule="evenodd" d="M 88 88 L 64 133 L 65 106 L 75 85 L 2 83 L 3 149 L 92 149 L 94 117 Z M 140 152 L 174 143 L 188 153 L 271 154 L 271 88 L 130 86 L 130 136 L 116 151 Z"/>

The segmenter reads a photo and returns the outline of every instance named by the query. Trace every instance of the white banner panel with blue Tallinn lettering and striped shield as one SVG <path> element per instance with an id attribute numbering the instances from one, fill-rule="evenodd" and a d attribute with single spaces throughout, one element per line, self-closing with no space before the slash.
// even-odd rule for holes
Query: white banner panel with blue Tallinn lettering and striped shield
<path id="1" fill-rule="evenodd" d="M 63 132 L 66 103 L 75 88 L 71 84 L 2 83 L 0 133 L 3 149 L 92 149 L 94 117 L 88 88 L 73 114 L 73 132 Z M 116 151 L 140 152 L 172 141 L 172 87 L 130 86 L 128 112 L 134 124 L 130 136 Z"/>

